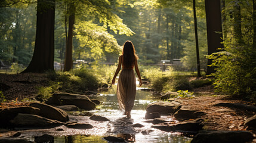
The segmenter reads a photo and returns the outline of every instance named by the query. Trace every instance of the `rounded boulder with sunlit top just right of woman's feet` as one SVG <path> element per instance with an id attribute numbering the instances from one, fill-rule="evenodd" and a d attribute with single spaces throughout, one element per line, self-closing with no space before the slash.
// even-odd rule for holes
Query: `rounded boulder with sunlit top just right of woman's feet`
<path id="1" fill-rule="evenodd" d="M 147 113 L 158 112 L 159 114 L 173 114 L 181 108 L 178 102 L 154 102 L 147 105 Z"/>

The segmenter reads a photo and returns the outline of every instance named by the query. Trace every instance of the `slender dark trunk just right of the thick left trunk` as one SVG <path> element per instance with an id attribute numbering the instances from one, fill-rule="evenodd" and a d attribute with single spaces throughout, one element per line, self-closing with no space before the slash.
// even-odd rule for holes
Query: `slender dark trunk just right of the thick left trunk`
<path id="1" fill-rule="evenodd" d="M 69 15 L 69 33 L 67 34 L 64 71 L 71 70 L 72 66 L 73 66 L 72 43 L 73 43 L 73 26 L 75 24 L 75 5 L 73 2 L 70 4 L 69 13 L 70 13 L 70 15 Z"/>

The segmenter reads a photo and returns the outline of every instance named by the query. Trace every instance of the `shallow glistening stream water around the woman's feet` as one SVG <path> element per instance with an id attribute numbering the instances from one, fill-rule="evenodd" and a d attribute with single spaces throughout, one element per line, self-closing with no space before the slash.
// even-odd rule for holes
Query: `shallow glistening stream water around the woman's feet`
<path id="1" fill-rule="evenodd" d="M 140 89 L 140 88 L 138 88 Z M 70 129 L 66 126 L 58 126 L 51 129 L 33 129 L 20 130 L 20 138 L 26 138 L 34 141 L 36 136 L 44 135 L 45 133 L 54 136 L 54 142 L 107 142 L 103 139 L 104 136 L 117 136 L 124 138 L 128 142 L 190 142 L 192 138 L 181 136 L 179 133 L 168 133 L 158 129 L 150 128 L 152 123 L 145 122 L 147 104 L 152 101 L 152 95 L 149 91 L 137 90 L 134 108 L 131 111 L 131 119 L 127 119 L 122 112 L 118 110 L 118 101 L 115 96 L 116 85 L 113 85 L 108 91 L 102 91 L 97 96 L 93 97 L 103 103 L 96 110 L 87 112 L 69 113 L 71 122 L 90 123 L 92 129 Z M 79 116 L 75 116 L 79 114 Z M 91 114 L 97 114 L 107 117 L 109 122 L 97 122 L 90 120 Z M 172 120 L 167 116 L 161 116 L 165 120 Z M 133 128 L 132 125 L 140 123 L 143 128 Z M 61 129 L 61 131 L 60 131 Z"/>

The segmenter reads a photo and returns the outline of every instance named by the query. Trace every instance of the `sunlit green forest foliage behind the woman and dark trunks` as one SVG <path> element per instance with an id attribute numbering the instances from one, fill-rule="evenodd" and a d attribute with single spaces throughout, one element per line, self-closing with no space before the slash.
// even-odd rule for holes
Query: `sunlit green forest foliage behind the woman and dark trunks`
<path id="1" fill-rule="evenodd" d="M 1 2 L 0 59 L 13 63 L 13 69 L 27 67 L 32 59 L 38 2 Z M 85 60 L 91 65 L 116 63 L 122 44 L 129 40 L 135 45 L 140 64 L 181 59 L 183 66 L 179 70 L 196 71 L 193 2 L 200 70 L 210 66 L 207 57 L 212 59 L 217 72 L 209 74 L 215 77 L 219 92 L 255 99 L 254 0 L 218 1 L 222 32 L 216 32 L 223 35 L 219 39 L 223 37 L 224 46 L 215 47 L 217 52 L 210 56 L 206 1 L 55 1 L 54 61 L 64 64 L 69 53 L 72 61 Z M 70 46 L 69 26 L 73 29 L 72 51 L 66 52 Z"/>

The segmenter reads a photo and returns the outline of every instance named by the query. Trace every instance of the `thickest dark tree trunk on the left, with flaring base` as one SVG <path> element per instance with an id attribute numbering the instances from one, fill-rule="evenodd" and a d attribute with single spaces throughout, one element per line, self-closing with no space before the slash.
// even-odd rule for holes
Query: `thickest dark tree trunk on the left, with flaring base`
<path id="1" fill-rule="evenodd" d="M 55 0 L 38 0 L 35 50 L 29 66 L 22 73 L 54 70 Z"/>

